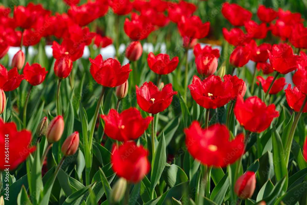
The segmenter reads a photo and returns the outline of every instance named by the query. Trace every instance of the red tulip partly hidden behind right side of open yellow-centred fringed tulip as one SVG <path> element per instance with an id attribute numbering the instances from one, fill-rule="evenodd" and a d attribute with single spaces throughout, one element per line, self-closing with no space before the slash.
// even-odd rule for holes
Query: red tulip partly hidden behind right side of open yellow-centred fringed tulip
<path id="1" fill-rule="evenodd" d="M 231 91 L 231 100 L 235 101 L 237 100 L 238 96 L 244 97 L 246 92 L 246 84 L 245 81 L 238 78 L 236 75 L 224 75 L 223 77 L 224 82 L 230 81 L 232 84 L 232 91 Z"/>

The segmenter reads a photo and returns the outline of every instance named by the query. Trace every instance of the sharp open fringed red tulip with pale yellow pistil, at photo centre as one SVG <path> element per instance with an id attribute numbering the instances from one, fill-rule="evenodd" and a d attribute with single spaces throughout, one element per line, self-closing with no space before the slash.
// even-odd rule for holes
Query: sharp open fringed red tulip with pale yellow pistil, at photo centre
<path id="1" fill-rule="evenodd" d="M 140 88 L 135 85 L 135 89 L 138 105 L 151 114 L 157 114 L 169 107 L 173 95 L 178 93 L 173 91 L 172 84 L 166 84 L 160 91 L 151 81 L 143 83 Z"/>

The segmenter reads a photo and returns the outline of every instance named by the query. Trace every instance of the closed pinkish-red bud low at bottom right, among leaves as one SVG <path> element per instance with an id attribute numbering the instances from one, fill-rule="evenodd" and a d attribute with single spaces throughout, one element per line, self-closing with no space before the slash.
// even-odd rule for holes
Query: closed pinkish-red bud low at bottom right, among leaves
<path id="1" fill-rule="evenodd" d="M 255 172 L 247 171 L 235 183 L 235 194 L 242 199 L 251 198 L 256 188 Z"/>

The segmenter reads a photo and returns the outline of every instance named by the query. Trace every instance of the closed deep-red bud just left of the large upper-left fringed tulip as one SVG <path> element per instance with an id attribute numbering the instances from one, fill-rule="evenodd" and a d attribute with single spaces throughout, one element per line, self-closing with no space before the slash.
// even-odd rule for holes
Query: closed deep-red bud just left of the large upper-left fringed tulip
<path id="1" fill-rule="evenodd" d="M 72 59 L 68 54 L 62 54 L 54 63 L 54 73 L 60 79 L 67 78 L 72 71 Z"/>

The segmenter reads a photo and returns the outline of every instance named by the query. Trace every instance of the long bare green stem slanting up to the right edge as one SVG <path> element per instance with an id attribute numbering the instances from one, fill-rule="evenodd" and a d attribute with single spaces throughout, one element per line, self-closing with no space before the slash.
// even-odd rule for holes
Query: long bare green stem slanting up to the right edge
<path id="1" fill-rule="evenodd" d="M 304 109 L 304 107 L 306 105 L 306 102 L 307 102 L 307 96 L 304 99 L 304 102 L 303 102 L 303 104 L 301 106 L 300 111 L 298 111 L 297 116 L 295 116 L 295 118 L 293 120 L 293 124 L 292 124 L 292 126 L 290 128 L 289 136 L 288 136 L 287 141 L 286 141 L 286 146 L 285 146 L 286 157 L 285 157 L 285 160 L 286 160 L 286 166 L 287 167 L 288 167 L 288 163 L 289 163 L 289 157 L 290 157 L 290 152 L 291 152 L 291 145 L 292 145 L 295 129 L 296 129 L 296 126 L 298 124 L 298 120 L 300 119 L 301 114 L 303 112 L 303 109 Z"/>

